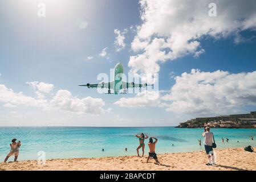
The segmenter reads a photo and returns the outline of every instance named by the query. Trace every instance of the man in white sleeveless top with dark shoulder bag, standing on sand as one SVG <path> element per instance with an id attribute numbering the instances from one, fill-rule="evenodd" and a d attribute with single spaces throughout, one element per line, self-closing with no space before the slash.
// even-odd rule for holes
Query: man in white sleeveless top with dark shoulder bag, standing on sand
<path id="1" fill-rule="evenodd" d="M 204 137 L 205 151 L 208 156 L 207 166 L 215 165 L 215 159 L 213 155 L 213 133 L 210 132 L 210 127 L 206 127 L 204 133 L 202 133 L 202 137 Z"/>

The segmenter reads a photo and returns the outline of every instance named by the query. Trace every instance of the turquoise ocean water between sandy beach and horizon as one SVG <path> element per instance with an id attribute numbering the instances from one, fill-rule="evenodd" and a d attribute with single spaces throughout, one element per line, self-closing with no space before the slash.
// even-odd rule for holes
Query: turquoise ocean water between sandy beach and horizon
<path id="1" fill-rule="evenodd" d="M 159 139 L 156 146 L 157 154 L 204 150 L 202 131 L 203 129 L 174 127 L 0 127 L 0 161 L 10 151 L 9 144 L 12 138 L 22 142 L 19 160 L 38 159 L 38 151 L 44 151 L 46 159 L 99 158 L 136 155 L 139 139 L 134 136 L 141 132 Z M 212 131 L 217 148 L 256 146 L 256 129 Z M 250 136 L 254 136 L 255 139 L 251 140 Z M 229 138 L 229 142 L 222 143 L 222 137 Z M 198 144 L 200 138 L 201 147 Z M 145 154 L 148 154 L 147 142 L 148 139 L 145 140 Z M 125 147 L 128 148 L 127 152 L 124 150 Z M 104 152 L 101 151 L 102 148 Z"/>

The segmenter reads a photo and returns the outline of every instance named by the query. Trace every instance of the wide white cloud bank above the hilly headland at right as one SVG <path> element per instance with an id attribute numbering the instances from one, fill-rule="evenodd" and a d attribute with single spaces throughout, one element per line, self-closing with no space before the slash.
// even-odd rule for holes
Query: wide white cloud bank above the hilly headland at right
<path id="1" fill-rule="evenodd" d="M 188 114 L 224 114 L 230 109 L 256 105 L 256 71 L 231 74 L 224 71 L 177 76 L 170 94 L 161 97 L 168 111 Z"/>

